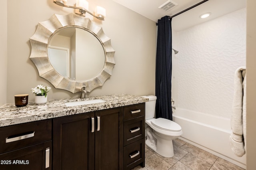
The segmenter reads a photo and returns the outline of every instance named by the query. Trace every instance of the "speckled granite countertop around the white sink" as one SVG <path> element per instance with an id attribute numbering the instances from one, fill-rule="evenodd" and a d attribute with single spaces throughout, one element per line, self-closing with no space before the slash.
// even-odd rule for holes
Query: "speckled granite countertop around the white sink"
<path id="1" fill-rule="evenodd" d="M 83 101 L 93 99 L 104 99 L 104 103 L 95 103 L 89 105 L 80 105 L 67 107 L 66 102 Z M 45 104 L 37 105 L 34 102 L 28 102 L 25 107 L 16 107 L 14 103 L 6 104 L 0 107 L 0 127 L 62 117 L 114 107 L 121 107 L 147 102 L 148 99 L 127 94 L 103 95 L 95 97 L 86 97 L 86 99 L 60 99 L 48 101 Z"/>

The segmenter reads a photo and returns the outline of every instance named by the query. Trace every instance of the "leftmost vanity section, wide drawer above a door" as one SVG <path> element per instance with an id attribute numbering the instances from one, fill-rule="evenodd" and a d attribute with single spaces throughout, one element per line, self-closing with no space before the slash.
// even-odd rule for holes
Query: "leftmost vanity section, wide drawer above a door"
<path id="1" fill-rule="evenodd" d="M 0 128 L 0 170 L 51 170 L 52 119 Z"/>

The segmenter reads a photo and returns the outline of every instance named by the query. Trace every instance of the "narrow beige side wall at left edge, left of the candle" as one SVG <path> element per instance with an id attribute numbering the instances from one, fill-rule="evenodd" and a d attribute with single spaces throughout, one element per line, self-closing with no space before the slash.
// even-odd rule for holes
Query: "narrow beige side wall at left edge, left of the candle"
<path id="1" fill-rule="evenodd" d="M 7 86 L 7 0 L 0 5 L 0 107 L 6 104 Z M 14 99 L 13 99 L 14 100 Z M 13 101 L 14 102 L 14 101 Z"/>

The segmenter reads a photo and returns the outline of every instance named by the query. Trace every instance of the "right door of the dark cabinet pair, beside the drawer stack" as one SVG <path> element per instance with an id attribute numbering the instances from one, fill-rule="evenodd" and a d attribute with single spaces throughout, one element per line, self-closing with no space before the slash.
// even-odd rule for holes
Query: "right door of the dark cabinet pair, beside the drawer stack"
<path id="1" fill-rule="evenodd" d="M 123 168 L 123 107 L 95 112 L 95 170 Z"/>

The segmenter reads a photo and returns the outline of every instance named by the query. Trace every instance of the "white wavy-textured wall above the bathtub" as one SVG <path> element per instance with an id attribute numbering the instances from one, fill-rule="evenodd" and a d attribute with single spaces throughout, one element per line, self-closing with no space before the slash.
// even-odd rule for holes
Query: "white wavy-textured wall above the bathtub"
<path id="1" fill-rule="evenodd" d="M 246 8 L 174 33 L 176 107 L 230 118 L 234 72 L 246 65 Z"/>

